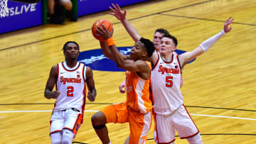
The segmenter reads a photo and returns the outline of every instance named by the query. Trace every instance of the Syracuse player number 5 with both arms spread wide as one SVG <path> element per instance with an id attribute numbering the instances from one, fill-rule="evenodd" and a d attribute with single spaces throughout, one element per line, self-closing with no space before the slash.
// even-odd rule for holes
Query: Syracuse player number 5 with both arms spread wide
<path id="1" fill-rule="evenodd" d="M 113 16 L 116 16 L 128 33 L 136 42 L 141 38 L 137 30 L 125 18 L 126 11 L 122 11 L 119 6 L 112 4 Z M 174 54 L 178 41 L 172 35 L 164 35 L 161 38 L 161 47 L 159 53 L 154 52 L 151 56 L 152 74 L 151 89 L 154 103 L 154 118 L 156 123 L 156 143 L 174 143 L 175 131 L 178 131 L 180 138 L 186 138 L 188 143 L 201 144 L 201 135 L 198 128 L 193 123 L 186 107 L 183 105 L 183 96 L 180 91 L 181 70 L 195 57 L 206 52 L 215 44 L 225 33 L 231 31 L 232 26 L 228 28 L 233 19 L 228 18 L 224 23 L 223 31 L 213 35 L 208 40 L 203 41 L 198 48 L 191 52 L 184 52 L 181 55 Z"/>

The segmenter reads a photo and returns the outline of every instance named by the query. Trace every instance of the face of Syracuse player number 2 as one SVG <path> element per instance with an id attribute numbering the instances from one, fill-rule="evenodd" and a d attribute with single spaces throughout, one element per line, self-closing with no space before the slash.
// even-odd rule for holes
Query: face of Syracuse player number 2
<path id="1" fill-rule="evenodd" d="M 70 59 L 77 59 L 80 51 L 78 45 L 75 43 L 68 43 L 65 47 L 65 57 Z"/>

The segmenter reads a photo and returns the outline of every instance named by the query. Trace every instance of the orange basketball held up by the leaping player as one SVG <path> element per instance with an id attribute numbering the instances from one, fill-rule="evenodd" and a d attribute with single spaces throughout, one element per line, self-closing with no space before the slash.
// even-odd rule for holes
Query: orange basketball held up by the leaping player
<path id="1" fill-rule="evenodd" d="M 105 19 L 99 19 L 97 21 L 95 21 L 95 23 L 93 23 L 92 25 L 92 35 L 97 39 L 97 40 L 100 40 L 100 41 L 104 41 L 105 39 L 102 38 L 101 36 L 99 35 L 96 35 L 96 34 L 100 34 L 99 32 L 97 32 L 97 28 L 102 28 L 102 25 L 104 25 L 106 28 L 107 28 L 107 31 L 111 31 L 111 29 L 113 28 L 113 25 L 112 23 L 110 23 L 110 21 L 107 21 Z"/>

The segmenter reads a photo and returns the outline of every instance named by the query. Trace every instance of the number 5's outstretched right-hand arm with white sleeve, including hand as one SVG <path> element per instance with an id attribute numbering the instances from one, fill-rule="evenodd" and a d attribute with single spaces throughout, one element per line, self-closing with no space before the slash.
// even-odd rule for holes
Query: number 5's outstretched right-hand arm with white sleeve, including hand
<path id="1" fill-rule="evenodd" d="M 232 26 L 228 27 L 231 23 L 233 23 L 233 18 L 228 18 L 227 21 L 224 23 L 223 31 L 220 31 L 220 33 L 217 33 L 216 35 L 213 35 L 212 37 L 208 38 L 207 40 L 203 41 L 201 45 L 198 46 L 198 48 L 194 49 L 191 52 L 185 52 L 181 55 L 179 55 L 179 60 L 181 62 L 181 67 L 183 68 L 184 65 L 186 65 L 187 62 L 190 60 L 193 60 L 195 57 L 198 57 L 203 52 L 206 52 L 209 50 L 225 33 L 228 33 L 232 30 Z"/>

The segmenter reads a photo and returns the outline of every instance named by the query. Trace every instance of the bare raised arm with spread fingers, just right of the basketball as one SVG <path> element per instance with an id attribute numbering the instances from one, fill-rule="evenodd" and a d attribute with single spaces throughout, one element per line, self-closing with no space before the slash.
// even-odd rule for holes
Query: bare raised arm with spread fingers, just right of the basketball
<path id="1" fill-rule="evenodd" d="M 142 36 L 139 35 L 139 32 L 136 30 L 136 28 L 134 28 L 134 26 L 132 26 L 132 24 L 127 20 L 126 11 L 122 11 L 118 4 L 112 4 L 112 7 L 110 6 L 112 13 L 109 14 L 115 16 L 119 21 L 122 22 L 124 28 L 135 42 L 139 41 Z"/>

